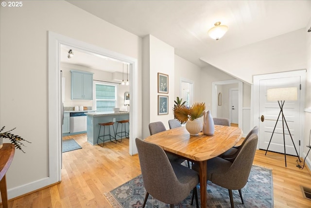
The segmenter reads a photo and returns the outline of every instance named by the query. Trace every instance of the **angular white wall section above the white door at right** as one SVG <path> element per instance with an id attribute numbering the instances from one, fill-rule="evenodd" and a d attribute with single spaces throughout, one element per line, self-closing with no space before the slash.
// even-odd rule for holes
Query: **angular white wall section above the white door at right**
<path id="1" fill-rule="evenodd" d="M 303 28 L 202 60 L 251 84 L 254 75 L 305 69 L 305 43 Z"/>

